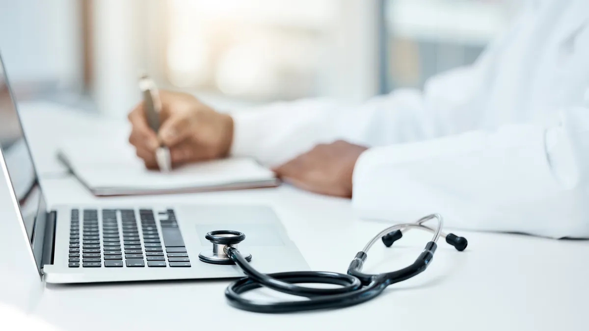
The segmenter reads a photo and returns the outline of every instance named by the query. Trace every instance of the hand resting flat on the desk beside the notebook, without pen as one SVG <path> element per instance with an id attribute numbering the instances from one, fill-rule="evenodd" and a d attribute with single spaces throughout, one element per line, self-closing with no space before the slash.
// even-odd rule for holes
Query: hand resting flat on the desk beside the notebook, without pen
<path id="1" fill-rule="evenodd" d="M 273 168 L 287 183 L 330 196 L 352 197 L 352 173 L 360 154 L 368 148 L 338 140 L 319 144 Z"/>

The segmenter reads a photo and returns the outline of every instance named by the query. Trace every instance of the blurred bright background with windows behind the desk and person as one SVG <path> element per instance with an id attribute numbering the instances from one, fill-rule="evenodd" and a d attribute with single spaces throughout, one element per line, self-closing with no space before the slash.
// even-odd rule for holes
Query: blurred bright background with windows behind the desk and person
<path id="1" fill-rule="evenodd" d="M 219 108 L 361 101 L 471 64 L 518 0 L 0 0 L 19 101 L 124 117 L 137 78 Z"/>

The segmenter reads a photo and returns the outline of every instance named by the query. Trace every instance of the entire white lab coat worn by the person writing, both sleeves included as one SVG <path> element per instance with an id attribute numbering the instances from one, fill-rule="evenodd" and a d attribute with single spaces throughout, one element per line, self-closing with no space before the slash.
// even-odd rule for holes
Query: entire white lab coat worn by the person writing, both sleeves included
<path id="1" fill-rule="evenodd" d="M 589 1 L 529 1 L 474 65 L 423 91 L 236 112 L 231 153 L 277 164 L 341 138 L 370 147 L 353 173 L 359 217 L 589 237 L 588 99 Z"/>

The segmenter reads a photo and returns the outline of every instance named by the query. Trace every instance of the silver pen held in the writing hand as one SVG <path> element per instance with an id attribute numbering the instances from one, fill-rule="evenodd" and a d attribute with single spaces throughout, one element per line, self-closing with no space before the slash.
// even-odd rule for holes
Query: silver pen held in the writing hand
<path id="1" fill-rule="evenodd" d="M 139 79 L 139 88 L 143 94 L 143 105 L 147 124 L 155 134 L 158 134 L 158 131 L 160 131 L 161 112 L 160 94 L 157 91 L 155 82 L 146 74 L 141 75 L 141 78 Z M 170 150 L 166 146 L 160 145 L 160 147 L 155 150 L 155 161 L 157 162 L 160 171 L 170 171 L 172 168 Z"/>

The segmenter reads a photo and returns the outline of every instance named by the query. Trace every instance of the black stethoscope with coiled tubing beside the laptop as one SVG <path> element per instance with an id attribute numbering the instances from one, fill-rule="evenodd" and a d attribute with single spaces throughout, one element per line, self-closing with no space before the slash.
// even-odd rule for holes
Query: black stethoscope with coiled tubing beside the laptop
<path id="1" fill-rule="evenodd" d="M 423 225 L 425 221 L 438 219 L 438 226 L 434 229 Z M 198 257 L 201 261 L 213 264 L 237 264 L 246 274 L 236 282 L 230 284 L 225 290 L 225 296 L 231 306 L 250 312 L 259 313 L 286 313 L 300 312 L 304 310 L 333 309 L 353 306 L 374 299 L 389 285 L 410 279 L 422 273 L 432 261 L 436 251 L 439 237 L 444 237 L 446 243 L 451 244 L 456 250 L 466 249 L 468 241 L 464 237 L 442 232 L 444 220 L 439 214 L 432 214 L 415 223 L 396 224 L 380 231 L 364 248 L 356 254 L 348 267 L 348 274 L 335 272 L 282 272 L 263 274 L 250 265 L 252 255 L 243 253 L 237 249 L 237 245 L 246 239 L 246 235 L 239 231 L 219 230 L 206 234 L 206 239 L 213 243 L 213 249 L 201 252 Z M 434 233 L 434 237 L 425 245 L 422 253 L 411 266 L 394 272 L 380 274 L 362 273 L 362 267 L 366 262 L 366 252 L 379 239 L 386 247 L 401 239 L 403 232 L 410 229 L 426 230 Z M 297 283 L 320 283 L 339 285 L 337 288 L 319 289 L 295 285 Z M 283 302 L 256 302 L 244 299 L 241 295 L 259 287 L 268 287 L 279 292 L 303 296 L 309 300 L 283 301 Z"/>

